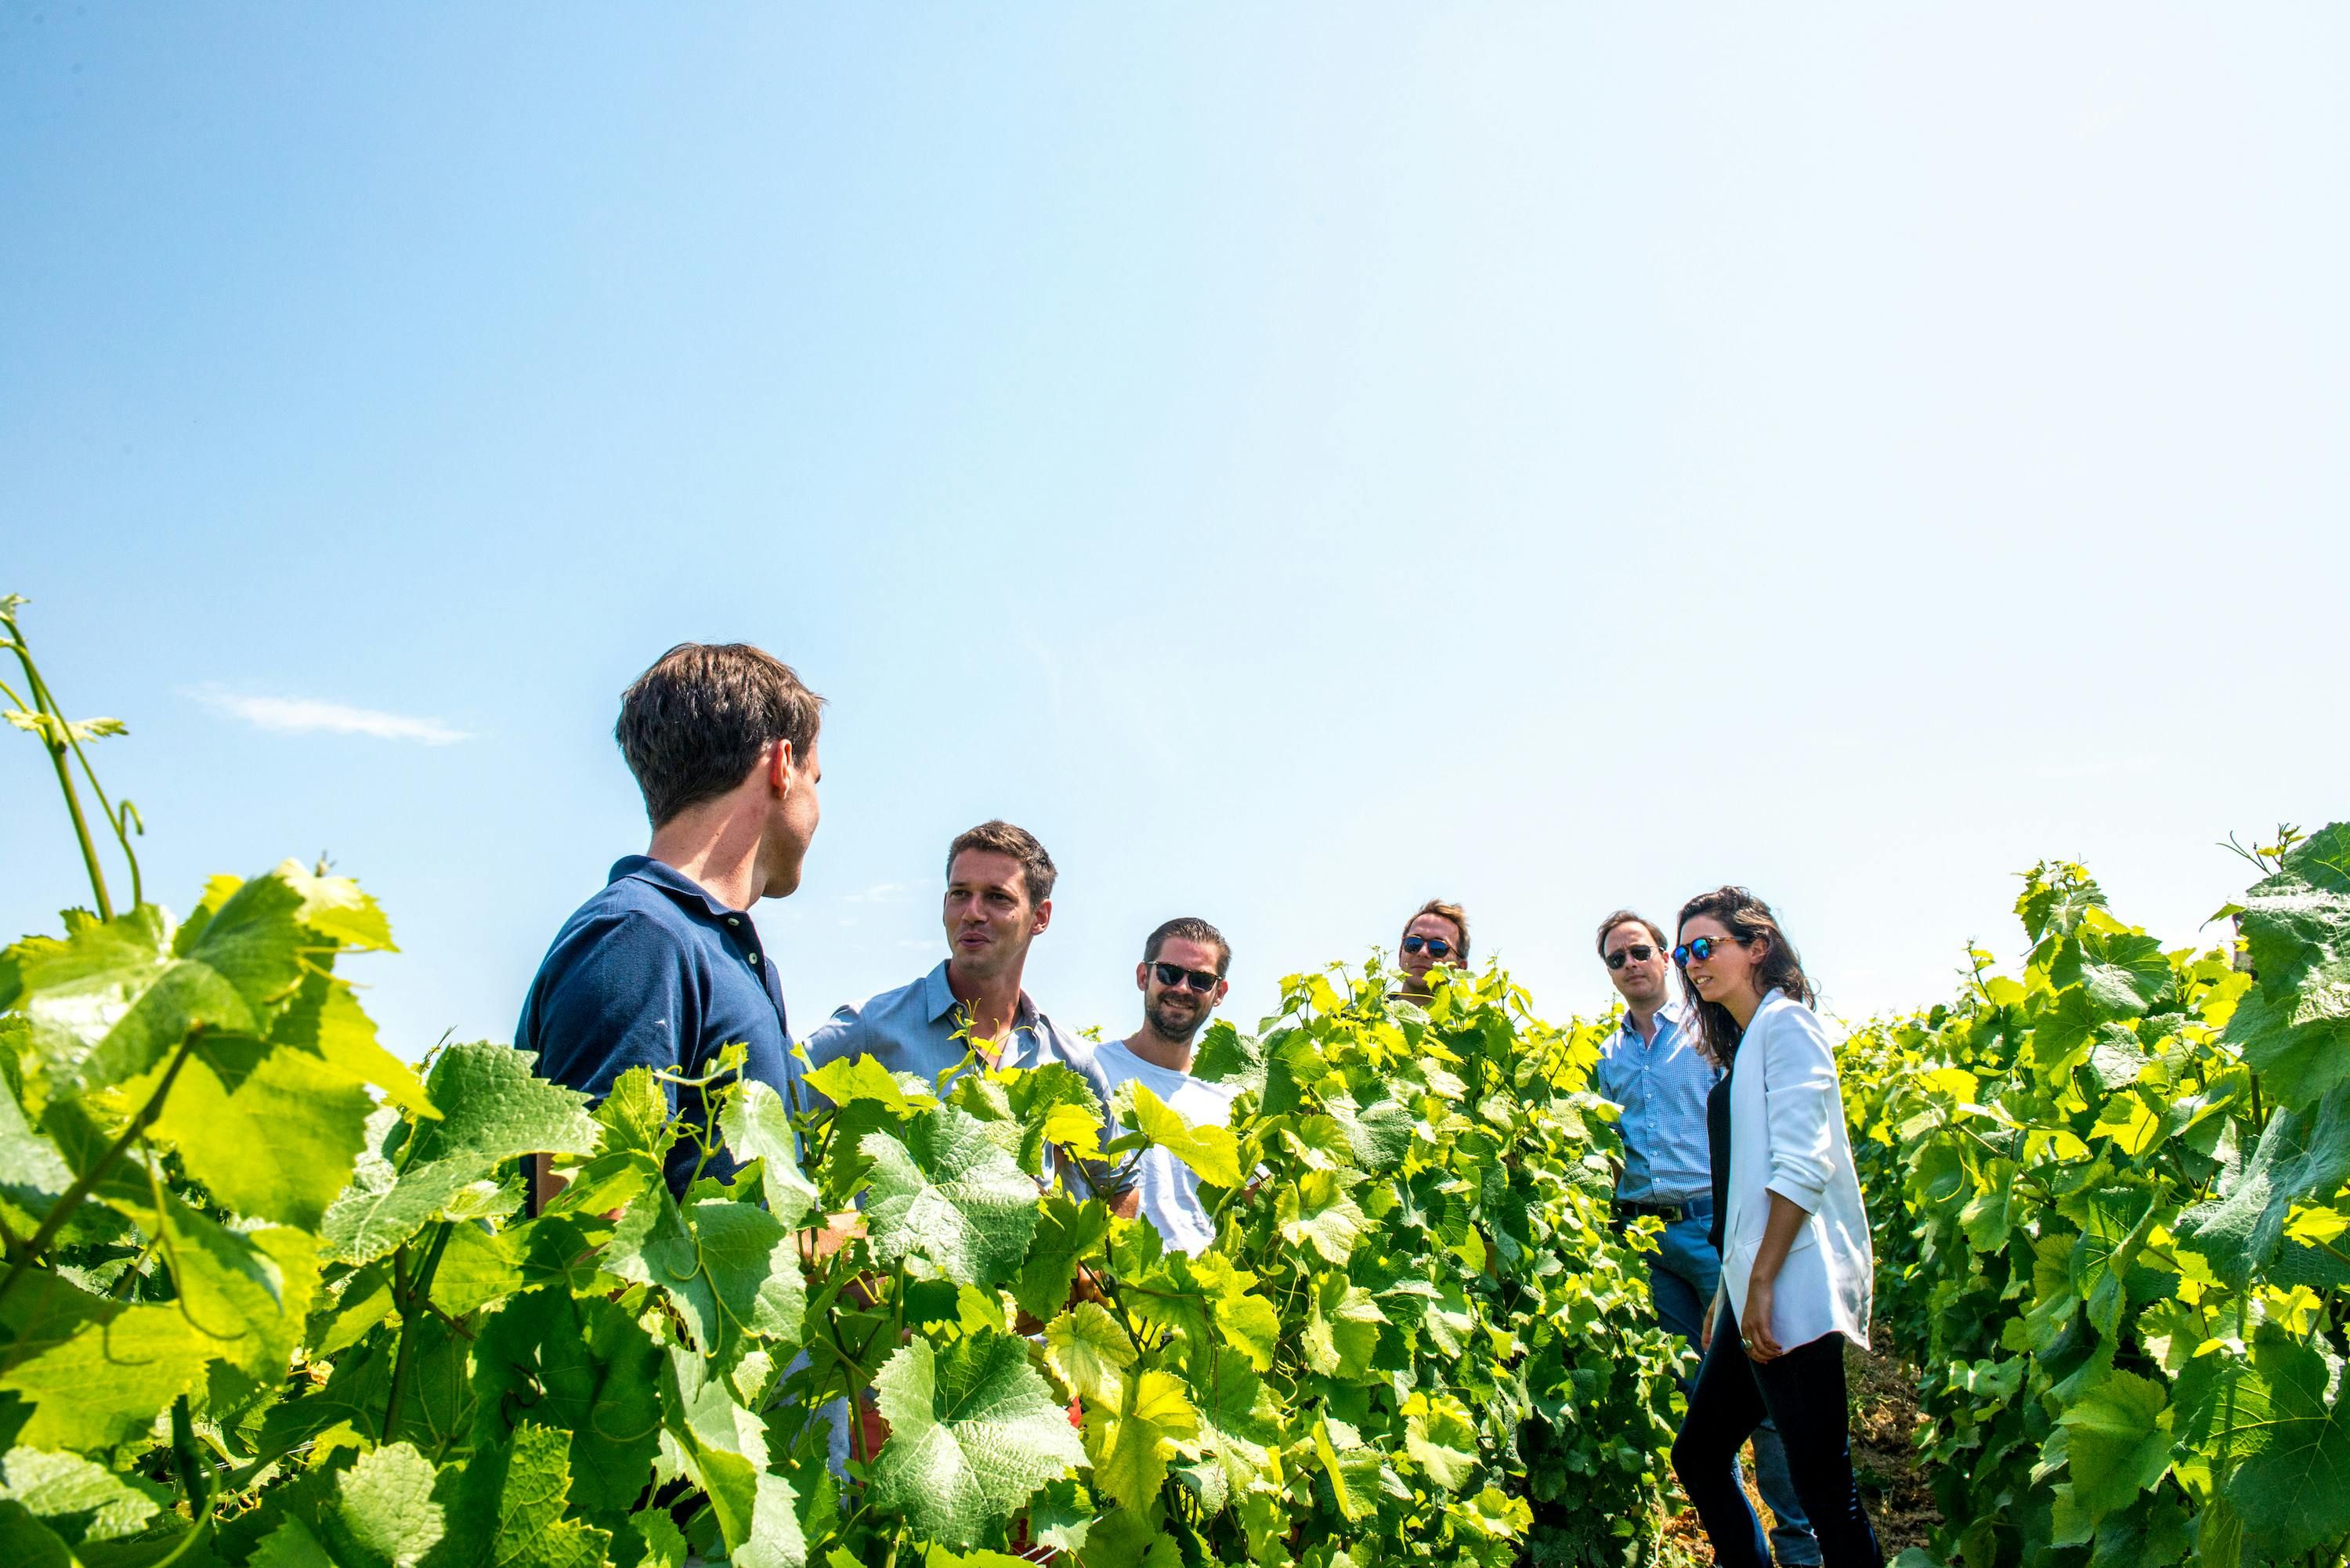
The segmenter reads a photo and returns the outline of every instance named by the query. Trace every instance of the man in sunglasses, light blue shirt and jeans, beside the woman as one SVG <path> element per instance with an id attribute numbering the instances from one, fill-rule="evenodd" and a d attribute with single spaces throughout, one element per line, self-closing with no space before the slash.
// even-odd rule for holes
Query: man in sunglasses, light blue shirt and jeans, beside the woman
<path id="1" fill-rule="evenodd" d="M 1617 1171 L 1617 1220 L 1664 1220 L 1647 1262 L 1657 1321 L 1699 1349 L 1699 1326 L 1723 1276 L 1713 1239 L 1713 1157 L 1706 1143 L 1706 1095 L 1723 1077 L 1699 1051 L 1694 1009 L 1673 997 L 1671 943 L 1654 922 L 1617 910 L 1600 922 L 1600 961 L 1624 997 L 1624 1027 L 1600 1051 L 1591 1088 L 1624 1107 L 1624 1164 Z M 1687 1385 L 1683 1385 L 1687 1389 Z M 1819 1563 L 1819 1540 L 1795 1500 L 1786 1448 L 1770 1422 L 1755 1427 L 1755 1490 L 1779 1528 L 1779 1568 Z"/>

